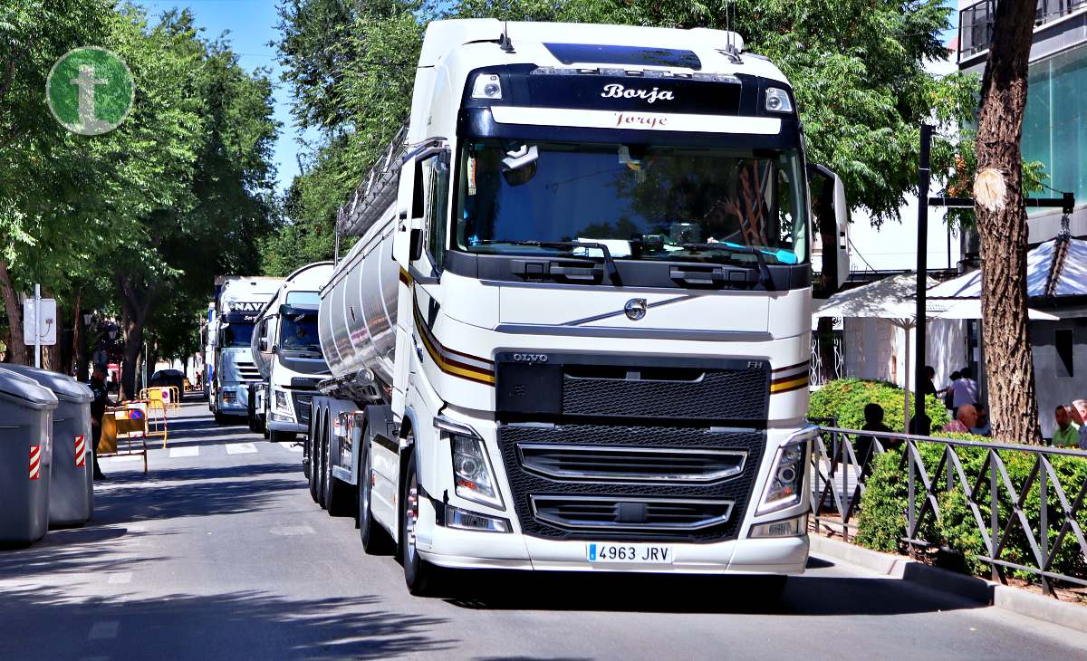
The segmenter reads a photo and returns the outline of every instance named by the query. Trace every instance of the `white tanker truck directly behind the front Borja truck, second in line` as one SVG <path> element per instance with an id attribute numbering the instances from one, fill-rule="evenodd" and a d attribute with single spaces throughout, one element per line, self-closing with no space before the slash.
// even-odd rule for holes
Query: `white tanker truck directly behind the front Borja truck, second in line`
<path id="1" fill-rule="evenodd" d="M 317 338 L 321 288 L 332 262 L 314 262 L 288 275 L 257 314 L 250 354 L 261 381 L 249 388 L 249 428 L 274 442 L 310 431 L 310 403 L 328 364 Z"/>

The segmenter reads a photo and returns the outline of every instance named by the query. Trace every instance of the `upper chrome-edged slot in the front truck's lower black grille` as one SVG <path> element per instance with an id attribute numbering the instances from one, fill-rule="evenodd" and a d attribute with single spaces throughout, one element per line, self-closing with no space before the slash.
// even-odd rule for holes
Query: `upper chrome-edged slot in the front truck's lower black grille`
<path id="1" fill-rule="evenodd" d="M 708 483 L 744 471 L 747 452 L 696 448 L 629 448 L 517 444 L 528 471 L 555 479 Z"/>

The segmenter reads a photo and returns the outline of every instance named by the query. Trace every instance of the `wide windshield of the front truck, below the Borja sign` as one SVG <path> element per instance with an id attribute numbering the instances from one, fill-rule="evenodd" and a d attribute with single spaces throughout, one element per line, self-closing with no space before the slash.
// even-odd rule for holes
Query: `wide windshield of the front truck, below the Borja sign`
<path id="1" fill-rule="evenodd" d="M 796 150 L 480 140 L 461 152 L 459 186 L 457 245 L 471 252 L 583 241 L 615 259 L 751 261 L 755 248 L 771 264 L 808 260 Z"/>

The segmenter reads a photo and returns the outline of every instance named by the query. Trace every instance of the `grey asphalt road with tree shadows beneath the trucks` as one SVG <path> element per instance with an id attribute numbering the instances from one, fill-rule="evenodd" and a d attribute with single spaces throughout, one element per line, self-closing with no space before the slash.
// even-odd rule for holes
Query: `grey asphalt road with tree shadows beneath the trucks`
<path id="1" fill-rule="evenodd" d="M 813 559 L 777 603 L 748 582 L 472 573 L 414 598 L 301 452 L 203 402 L 170 448 L 103 461 L 95 520 L 0 550 L 0 659 L 1084 659 L 1087 636 Z M 448 590 L 447 590 L 448 591 Z"/>

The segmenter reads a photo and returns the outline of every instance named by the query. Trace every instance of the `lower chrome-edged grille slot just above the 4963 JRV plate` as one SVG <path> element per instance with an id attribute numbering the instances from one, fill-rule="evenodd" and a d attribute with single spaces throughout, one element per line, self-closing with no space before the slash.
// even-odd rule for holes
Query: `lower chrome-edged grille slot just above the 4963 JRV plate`
<path id="1" fill-rule="evenodd" d="M 562 528 L 698 531 L 726 523 L 728 500 L 532 496 L 533 513 Z"/>

